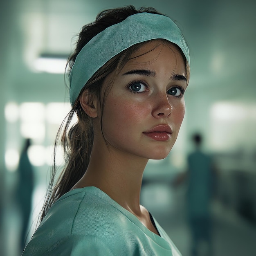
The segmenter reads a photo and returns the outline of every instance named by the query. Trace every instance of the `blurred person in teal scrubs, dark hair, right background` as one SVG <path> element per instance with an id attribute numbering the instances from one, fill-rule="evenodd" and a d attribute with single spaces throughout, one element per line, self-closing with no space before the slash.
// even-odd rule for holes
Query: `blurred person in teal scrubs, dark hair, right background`
<path id="1" fill-rule="evenodd" d="M 186 210 L 191 231 L 191 255 L 200 255 L 206 248 L 207 256 L 213 255 L 211 202 L 216 184 L 216 168 L 210 155 L 202 150 L 202 135 L 192 136 L 195 150 L 188 155 L 188 171 L 180 175 L 175 186 L 186 181 Z M 203 243 L 206 246 L 201 246 Z"/>

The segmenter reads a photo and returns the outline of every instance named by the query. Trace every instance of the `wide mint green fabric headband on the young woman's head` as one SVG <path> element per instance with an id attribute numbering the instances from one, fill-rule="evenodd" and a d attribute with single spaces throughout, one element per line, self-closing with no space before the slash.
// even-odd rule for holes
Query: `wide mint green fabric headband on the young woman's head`
<path id="1" fill-rule="evenodd" d="M 166 39 L 180 47 L 188 63 L 189 49 L 180 29 L 169 17 L 137 13 L 92 38 L 79 52 L 70 73 L 70 103 L 74 106 L 82 88 L 112 57 L 137 43 Z"/>

